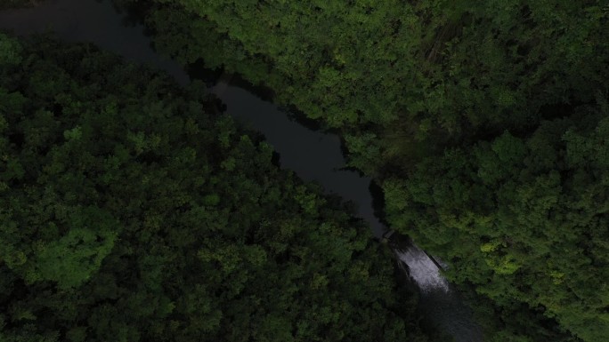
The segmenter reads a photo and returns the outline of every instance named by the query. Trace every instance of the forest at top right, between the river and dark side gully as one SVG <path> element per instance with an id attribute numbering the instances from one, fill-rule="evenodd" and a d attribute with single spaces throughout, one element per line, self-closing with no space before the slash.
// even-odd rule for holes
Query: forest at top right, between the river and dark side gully
<path id="1" fill-rule="evenodd" d="M 117 1 L 150 4 L 159 51 L 238 72 L 341 128 L 353 166 L 371 171 L 532 130 L 609 78 L 604 0 Z"/>

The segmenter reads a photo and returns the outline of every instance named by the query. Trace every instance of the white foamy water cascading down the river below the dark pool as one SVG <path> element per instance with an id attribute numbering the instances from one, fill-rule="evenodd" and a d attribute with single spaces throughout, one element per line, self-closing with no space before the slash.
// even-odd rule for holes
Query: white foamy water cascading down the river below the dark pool
<path id="1" fill-rule="evenodd" d="M 408 266 L 410 277 L 417 282 L 421 291 L 428 293 L 450 290 L 449 282 L 440 273 L 440 268 L 417 246 L 410 244 L 406 250 L 396 250 L 395 253 Z"/>

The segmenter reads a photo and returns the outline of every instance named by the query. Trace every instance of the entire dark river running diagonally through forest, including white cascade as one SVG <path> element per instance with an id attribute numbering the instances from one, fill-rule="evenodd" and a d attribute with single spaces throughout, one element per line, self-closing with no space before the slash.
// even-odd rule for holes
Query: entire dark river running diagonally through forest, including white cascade
<path id="1" fill-rule="evenodd" d="M 54 32 L 69 42 L 91 42 L 122 55 L 126 60 L 147 63 L 188 84 L 189 75 L 172 60 L 160 57 L 150 47 L 140 25 L 127 25 L 109 1 L 47 0 L 35 8 L 0 12 L 0 28 L 20 36 Z M 313 131 L 293 120 L 293 115 L 236 84 L 221 80 L 209 91 L 223 100 L 227 112 L 256 131 L 280 154 L 282 168 L 295 171 L 305 180 L 316 181 L 327 193 L 340 195 L 355 204 L 359 216 L 381 237 L 387 228 L 374 214 L 371 179 L 356 171 L 343 170 L 345 158 L 337 135 Z M 482 334 L 471 314 L 424 251 L 414 244 L 397 249 L 396 256 L 406 265 L 421 290 L 421 311 L 426 319 L 448 331 L 459 342 L 482 341 Z M 404 341 L 406 342 L 406 341 Z"/>

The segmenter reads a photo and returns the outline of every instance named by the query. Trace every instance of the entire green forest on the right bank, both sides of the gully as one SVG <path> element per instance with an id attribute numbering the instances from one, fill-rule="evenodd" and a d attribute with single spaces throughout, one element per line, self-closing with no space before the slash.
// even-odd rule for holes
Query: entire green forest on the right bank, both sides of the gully
<path id="1" fill-rule="evenodd" d="M 521 326 L 495 340 L 609 336 L 605 0 L 117 2 L 340 131 L 391 226 Z"/>

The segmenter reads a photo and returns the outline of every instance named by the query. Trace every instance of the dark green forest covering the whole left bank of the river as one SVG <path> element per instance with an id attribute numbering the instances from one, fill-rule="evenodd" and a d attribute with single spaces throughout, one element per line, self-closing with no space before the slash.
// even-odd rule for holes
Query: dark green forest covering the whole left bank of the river
<path id="1" fill-rule="evenodd" d="M 200 84 L 0 45 L 0 340 L 427 340 L 368 227 Z"/>

